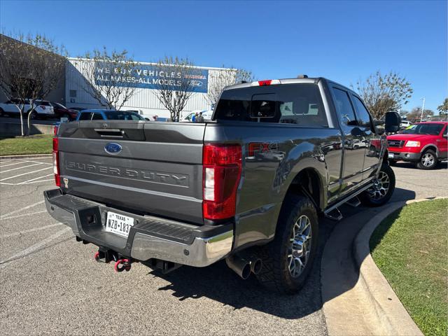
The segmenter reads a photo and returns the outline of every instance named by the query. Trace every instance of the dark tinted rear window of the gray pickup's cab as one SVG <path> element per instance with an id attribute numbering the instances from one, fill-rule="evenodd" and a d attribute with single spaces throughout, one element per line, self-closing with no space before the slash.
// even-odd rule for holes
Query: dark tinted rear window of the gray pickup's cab
<path id="1" fill-rule="evenodd" d="M 328 127 L 321 93 L 311 83 L 225 90 L 216 119 Z"/>

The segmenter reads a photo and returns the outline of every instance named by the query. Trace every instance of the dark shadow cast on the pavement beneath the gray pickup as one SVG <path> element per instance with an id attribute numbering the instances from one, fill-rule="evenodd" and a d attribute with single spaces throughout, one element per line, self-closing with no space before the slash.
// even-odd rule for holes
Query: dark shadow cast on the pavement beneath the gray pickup
<path id="1" fill-rule="evenodd" d="M 391 202 L 412 200 L 414 197 L 415 193 L 413 191 L 396 188 L 393 197 L 395 200 L 391 200 Z M 250 308 L 288 319 L 301 318 L 316 312 L 321 314 L 319 312 L 323 306 L 321 286 L 329 284 L 322 283 L 321 278 L 321 263 L 323 262 L 325 243 L 337 225 L 343 225 L 344 222 L 345 224 L 350 223 L 351 218 L 358 222 L 353 223 L 353 226 L 358 227 L 358 230 L 360 230 L 367 223 L 368 219 L 371 218 L 371 209 L 344 206 L 341 208 L 342 214 L 344 214 L 344 219 L 341 222 L 337 223 L 325 218 L 321 219 L 318 255 L 316 255 L 307 283 L 296 295 L 271 293 L 262 288 L 253 275 L 247 280 L 242 280 L 225 265 L 224 261 L 204 268 L 183 266 L 169 274 L 162 274 L 158 271 L 151 271 L 148 274 L 160 276 L 162 279 L 169 281 L 167 286 L 163 286 L 159 290 L 171 291 L 172 295 L 177 297 L 179 301 L 208 297 L 211 300 L 233 307 L 235 310 Z M 381 211 L 381 208 L 375 209 L 376 211 Z M 354 237 L 356 237 L 356 234 L 354 234 Z M 351 245 L 350 242 L 348 244 Z M 347 251 L 342 251 L 342 253 L 347 253 Z M 349 255 L 343 258 L 351 262 L 351 253 L 350 251 L 348 253 Z M 359 270 L 355 269 L 352 275 L 354 276 L 349 276 L 349 279 L 344 279 L 344 281 L 342 279 L 341 281 L 325 279 L 325 281 L 331 282 L 332 286 L 332 295 L 331 297 L 326 297 L 325 300 L 331 300 L 332 297 L 336 297 L 353 288 L 356 281 L 358 281 Z"/>

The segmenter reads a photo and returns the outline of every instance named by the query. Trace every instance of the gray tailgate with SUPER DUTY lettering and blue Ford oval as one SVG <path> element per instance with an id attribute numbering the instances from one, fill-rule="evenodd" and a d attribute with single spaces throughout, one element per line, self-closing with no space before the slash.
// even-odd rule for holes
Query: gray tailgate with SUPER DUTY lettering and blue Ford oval
<path id="1" fill-rule="evenodd" d="M 205 127 L 122 120 L 63 123 L 61 188 L 109 207 L 200 224 Z"/>

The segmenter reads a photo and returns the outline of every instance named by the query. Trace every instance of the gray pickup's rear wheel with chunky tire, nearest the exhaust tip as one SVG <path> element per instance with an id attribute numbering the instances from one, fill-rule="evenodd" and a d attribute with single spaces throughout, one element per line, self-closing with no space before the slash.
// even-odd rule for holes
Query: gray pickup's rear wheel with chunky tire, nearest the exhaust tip
<path id="1" fill-rule="evenodd" d="M 304 286 L 313 266 L 318 244 L 318 219 L 316 209 L 307 197 L 287 197 L 274 240 L 258 251 L 263 266 L 257 279 L 269 290 L 293 294 Z"/>

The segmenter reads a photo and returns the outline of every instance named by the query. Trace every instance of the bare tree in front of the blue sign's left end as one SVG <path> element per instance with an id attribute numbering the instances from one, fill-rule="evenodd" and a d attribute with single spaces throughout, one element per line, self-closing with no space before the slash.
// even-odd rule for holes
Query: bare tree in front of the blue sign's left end
<path id="1" fill-rule="evenodd" d="M 78 57 L 78 66 L 85 84 L 81 88 L 101 106 L 120 110 L 137 92 L 133 74 L 139 63 L 126 50 L 95 49 Z"/>

